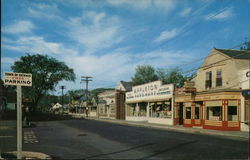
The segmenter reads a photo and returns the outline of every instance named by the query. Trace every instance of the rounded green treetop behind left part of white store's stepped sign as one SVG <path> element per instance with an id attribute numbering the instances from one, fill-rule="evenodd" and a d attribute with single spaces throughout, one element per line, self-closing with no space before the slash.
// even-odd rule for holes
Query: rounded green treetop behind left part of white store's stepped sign
<path id="1" fill-rule="evenodd" d="M 131 78 L 133 85 L 140 85 L 158 80 L 154 67 L 150 65 L 138 65 L 135 75 Z"/>

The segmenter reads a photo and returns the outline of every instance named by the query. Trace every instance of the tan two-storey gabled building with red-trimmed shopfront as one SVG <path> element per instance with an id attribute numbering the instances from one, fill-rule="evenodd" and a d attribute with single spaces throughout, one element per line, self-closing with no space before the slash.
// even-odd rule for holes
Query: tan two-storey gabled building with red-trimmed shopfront
<path id="1" fill-rule="evenodd" d="M 242 96 L 243 81 L 239 73 L 249 71 L 249 55 L 247 51 L 213 49 L 192 82 L 176 90 L 175 124 L 242 130 L 242 120 L 249 117 L 249 101 Z M 246 82 L 249 83 L 249 78 Z M 243 128 L 249 128 L 249 123 Z"/>

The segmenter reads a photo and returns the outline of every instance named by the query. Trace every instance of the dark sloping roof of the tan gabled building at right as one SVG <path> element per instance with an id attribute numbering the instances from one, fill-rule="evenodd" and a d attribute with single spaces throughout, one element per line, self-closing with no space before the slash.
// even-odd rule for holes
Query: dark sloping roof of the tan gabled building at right
<path id="1" fill-rule="evenodd" d="M 249 50 L 232 50 L 232 49 L 217 49 L 217 48 L 216 50 L 234 59 L 249 59 L 250 60 Z"/>

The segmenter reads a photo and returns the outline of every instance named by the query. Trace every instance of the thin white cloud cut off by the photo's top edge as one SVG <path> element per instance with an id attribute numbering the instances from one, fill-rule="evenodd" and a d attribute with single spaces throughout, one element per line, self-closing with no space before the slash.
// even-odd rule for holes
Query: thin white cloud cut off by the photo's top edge
<path id="1" fill-rule="evenodd" d="M 164 9 L 164 11 L 170 11 L 176 6 L 176 0 L 107 0 L 113 6 L 128 5 L 134 9 L 148 9 L 155 7 L 158 9 Z"/>

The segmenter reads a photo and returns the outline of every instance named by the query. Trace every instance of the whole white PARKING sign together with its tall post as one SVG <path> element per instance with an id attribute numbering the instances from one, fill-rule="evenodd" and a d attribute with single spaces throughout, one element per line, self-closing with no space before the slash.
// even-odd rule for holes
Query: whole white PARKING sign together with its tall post
<path id="1" fill-rule="evenodd" d="M 22 86 L 32 86 L 32 74 L 5 72 L 4 85 L 17 87 L 17 159 L 22 159 Z"/>

